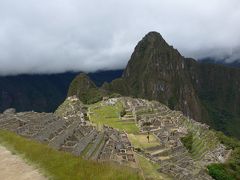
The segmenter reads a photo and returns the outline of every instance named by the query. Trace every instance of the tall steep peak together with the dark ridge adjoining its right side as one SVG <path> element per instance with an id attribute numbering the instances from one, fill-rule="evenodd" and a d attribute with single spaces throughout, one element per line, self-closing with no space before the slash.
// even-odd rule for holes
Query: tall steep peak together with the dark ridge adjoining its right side
<path id="1" fill-rule="evenodd" d="M 240 138 L 240 70 L 185 58 L 157 32 L 137 44 L 123 76 L 103 88 L 158 100 Z"/>

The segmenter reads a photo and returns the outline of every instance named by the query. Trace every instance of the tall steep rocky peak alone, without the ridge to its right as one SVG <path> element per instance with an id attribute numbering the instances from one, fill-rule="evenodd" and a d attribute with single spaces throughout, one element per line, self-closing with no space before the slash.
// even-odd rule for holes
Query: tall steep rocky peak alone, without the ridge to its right
<path id="1" fill-rule="evenodd" d="M 158 100 L 196 120 L 205 115 L 185 58 L 157 32 L 148 33 L 137 44 L 123 77 L 105 88 L 124 95 Z"/>

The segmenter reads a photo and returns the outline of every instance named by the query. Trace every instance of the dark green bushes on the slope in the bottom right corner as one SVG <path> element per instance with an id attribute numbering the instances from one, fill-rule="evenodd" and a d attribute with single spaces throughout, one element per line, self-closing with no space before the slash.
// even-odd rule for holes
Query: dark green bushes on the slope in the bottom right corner
<path id="1" fill-rule="evenodd" d="M 233 151 L 224 164 L 209 165 L 209 174 L 216 180 L 240 179 L 240 142 L 237 139 L 225 136 L 222 132 L 216 132 L 216 134 L 221 143 Z"/>

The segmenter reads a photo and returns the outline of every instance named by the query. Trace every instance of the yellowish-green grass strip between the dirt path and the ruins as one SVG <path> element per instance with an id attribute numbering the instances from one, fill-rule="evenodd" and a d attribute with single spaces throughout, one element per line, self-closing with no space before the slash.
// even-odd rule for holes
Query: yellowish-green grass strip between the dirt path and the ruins
<path id="1" fill-rule="evenodd" d="M 141 179 L 137 172 L 127 167 L 87 161 L 12 132 L 0 130 L 0 143 L 11 152 L 23 155 L 30 163 L 37 165 L 50 179 Z"/>

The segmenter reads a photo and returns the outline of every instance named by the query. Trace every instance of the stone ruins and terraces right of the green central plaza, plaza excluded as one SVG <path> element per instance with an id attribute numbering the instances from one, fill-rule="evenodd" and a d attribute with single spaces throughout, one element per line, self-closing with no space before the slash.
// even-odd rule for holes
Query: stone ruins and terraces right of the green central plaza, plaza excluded
<path id="1" fill-rule="evenodd" d="M 125 107 L 136 116 L 141 133 L 154 135 L 159 145 L 141 148 L 139 153 L 160 165 L 159 171 L 174 179 L 211 179 L 206 165 L 223 162 L 228 150 L 209 127 L 171 111 L 158 102 L 124 98 Z M 181 138 L 193 133 L 193 148 L 188 151 Z"/>

